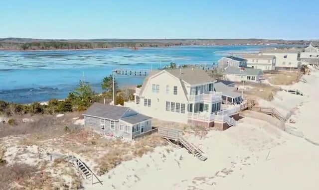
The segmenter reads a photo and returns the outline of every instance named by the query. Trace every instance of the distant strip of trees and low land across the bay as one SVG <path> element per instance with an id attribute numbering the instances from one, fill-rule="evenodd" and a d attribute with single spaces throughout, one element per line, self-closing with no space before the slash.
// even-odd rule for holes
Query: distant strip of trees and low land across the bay
<path id="1" fill-rule="evenodd" d="M 91 40 L 44 40 L 25 38 L 2 38 L 0 48 L 9 50 L 56 50 L 56 49 L 103 49 L 125 47 L 167 47 L 181 45 L 307 45 L 306 40 L 267 39 L 91 39 Z M 319 41 L 313 41 L 318 45 Z"/>

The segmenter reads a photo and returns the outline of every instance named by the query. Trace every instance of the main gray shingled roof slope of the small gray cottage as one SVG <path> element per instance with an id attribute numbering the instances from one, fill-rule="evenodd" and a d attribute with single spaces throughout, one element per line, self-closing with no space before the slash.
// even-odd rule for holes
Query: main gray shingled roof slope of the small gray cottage
<path id="1" fill-rule="evenodd" d="M 129 107 L 94 102 L 83 115 L 119 120 Z"/>

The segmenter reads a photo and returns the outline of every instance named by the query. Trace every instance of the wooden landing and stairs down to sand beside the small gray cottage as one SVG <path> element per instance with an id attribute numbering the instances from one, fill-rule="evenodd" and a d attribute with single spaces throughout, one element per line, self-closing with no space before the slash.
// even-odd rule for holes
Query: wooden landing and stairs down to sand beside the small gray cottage
<path id="1" fill-rule="evenodd" d="M 193 154 L 196 158 L 198 158 L 201 161 L 207 160 L 207 157 L 203 155 L 203 151 L 201 151 L 192 143 L 189 143 L 183 137 L 183 131 L 166 127 L 159 127 L 158 129 L 158 132 L 162 138 L 175 141 L 177 143 L 177 146 L 181 144 L 182 147 L 184 147 L 190 154 Z"/>

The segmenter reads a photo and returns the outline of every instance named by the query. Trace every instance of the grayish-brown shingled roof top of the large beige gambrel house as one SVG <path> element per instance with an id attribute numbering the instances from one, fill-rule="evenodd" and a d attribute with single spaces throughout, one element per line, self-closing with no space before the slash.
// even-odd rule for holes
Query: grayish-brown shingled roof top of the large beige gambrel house
<path id="1" fill-rule="evenodd" d="M 204 70 L 198 68 L 182 68 L 165 70 L 176 78 L 179 78 L 189 85 L 210 83 L 216 81 L 211 78 Z M 181 71 L 181 74 L 180 74 Z"/>

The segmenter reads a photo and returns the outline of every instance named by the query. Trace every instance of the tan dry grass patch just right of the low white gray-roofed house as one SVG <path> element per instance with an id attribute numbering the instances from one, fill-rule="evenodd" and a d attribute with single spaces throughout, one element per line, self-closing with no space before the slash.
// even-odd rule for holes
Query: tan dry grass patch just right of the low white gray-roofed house
<path id="1" fill-rule="evenodd" d="M 292 85 L 298 81 L 298 72 L 280 72 L 277 74 L 265 74 L 264 78 L 273 85 Z"/>

